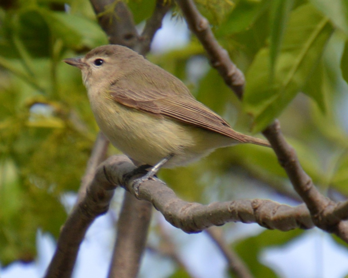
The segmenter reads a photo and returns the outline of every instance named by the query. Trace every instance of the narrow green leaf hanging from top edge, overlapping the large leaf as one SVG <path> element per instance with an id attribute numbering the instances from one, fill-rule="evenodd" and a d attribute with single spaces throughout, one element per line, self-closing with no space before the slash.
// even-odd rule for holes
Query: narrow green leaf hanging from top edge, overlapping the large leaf
<path id="1" fill-rule="evenodd" d="M 282 46 L 284 31 L 287 19 L 290 15 L 294 0 L 275 0 L 271 9 L 270 18 L 270 63 L 271 63 L 271 77 L 274 74 L 274 67 L 277 56 Z"/>

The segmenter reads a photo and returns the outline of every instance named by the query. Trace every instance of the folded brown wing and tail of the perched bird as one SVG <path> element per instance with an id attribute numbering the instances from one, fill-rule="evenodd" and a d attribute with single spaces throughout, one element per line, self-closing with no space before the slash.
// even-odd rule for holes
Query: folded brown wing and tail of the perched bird
<path id="1" fill-rule="evenodd" d="M 122 83 L 122 81 L 114 82 L 110 91 L 112 99 L 122 105 L 156 116 L 171 117 L 183 123 L 218 132 L 240 142 L 269 146 L 265 140 L 233 130 L 223 118 L 197 101 L 184 84 L 179 84 L 180 88 L 170 91 L 169 86 L 159 89 L 150 82 L 142 86 L 134 82 L 127 82 L 127 85 Z M 178 90 L 184 90 L 184 92 L 178 94 Z"/>

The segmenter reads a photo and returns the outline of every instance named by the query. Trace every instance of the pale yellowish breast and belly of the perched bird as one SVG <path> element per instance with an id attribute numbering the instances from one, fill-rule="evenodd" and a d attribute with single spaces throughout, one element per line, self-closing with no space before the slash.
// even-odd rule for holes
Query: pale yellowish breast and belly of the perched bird
<path id="1" fill-rule="evenodd" d="M 98 126 L 112 145 L 137 162 L 155 165 L 174 154 L 164 167 L 181 166 L 233 143 L 221 134 L 108 101 L 108 106 L 92 104 Z"/>

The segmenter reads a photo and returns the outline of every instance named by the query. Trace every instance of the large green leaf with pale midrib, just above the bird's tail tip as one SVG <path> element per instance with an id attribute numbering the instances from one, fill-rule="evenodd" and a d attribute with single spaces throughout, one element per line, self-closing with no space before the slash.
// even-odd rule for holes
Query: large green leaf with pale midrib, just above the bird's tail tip
<path id="1" fill-rule="evenodd" d="M 270 49 L 256 55 L 246 74 L 244 108 L 254 117 L 253 131 L 263 130 L 303 89 L 321 58 L 333 27 L 310 4 L 295 9 L 270 79 Z"/>

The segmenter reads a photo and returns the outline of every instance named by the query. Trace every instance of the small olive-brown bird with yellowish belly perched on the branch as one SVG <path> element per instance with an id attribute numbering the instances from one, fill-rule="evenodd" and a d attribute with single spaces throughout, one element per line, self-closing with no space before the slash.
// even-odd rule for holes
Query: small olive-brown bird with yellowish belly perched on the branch
<path id="1" fill-rule="evenodd" d="M 101 131 L 139 165 L 181 166 L 238 143 L 270 146 L 234 131 L 179 79 L 129 48 L 105 45 L 64 62 L 81 70 Z"/>

